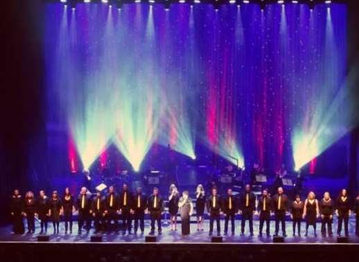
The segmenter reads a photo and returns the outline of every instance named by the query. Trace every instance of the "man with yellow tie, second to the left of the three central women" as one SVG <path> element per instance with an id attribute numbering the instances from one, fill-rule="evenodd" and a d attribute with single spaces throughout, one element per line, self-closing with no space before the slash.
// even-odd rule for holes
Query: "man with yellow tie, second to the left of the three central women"
<path id="1" fill-rule="evenodd" d="M 138 228 L 141 234 L 145 231 L 145 211 L 147 209 L 147 197 L 142 193 L 141 187 L 137 187 L 134 196 L 134 234 L 137 234 Z"/>

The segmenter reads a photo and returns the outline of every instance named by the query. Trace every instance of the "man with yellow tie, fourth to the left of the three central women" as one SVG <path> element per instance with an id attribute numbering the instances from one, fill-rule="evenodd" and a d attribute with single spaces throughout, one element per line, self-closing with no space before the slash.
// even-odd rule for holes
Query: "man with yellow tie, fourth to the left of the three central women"
<path id="1" fill-rule="evenodd" d="M 127 196 L 126 196 L 127 198 Z M 126 205 L 127 205 L 126 199 Z M 119 214 L 121 209 L 121 200 L 114 191 L 114 187 L 110 186 L 108 194 L 105 198 L 105 215 L 107 218 L 107 232 L 111 232 L 111 222 L 114 221 L 114 229 L 119 232 Z M 123 230 L 125 230 L 125 221 L 123 222 Z"/>

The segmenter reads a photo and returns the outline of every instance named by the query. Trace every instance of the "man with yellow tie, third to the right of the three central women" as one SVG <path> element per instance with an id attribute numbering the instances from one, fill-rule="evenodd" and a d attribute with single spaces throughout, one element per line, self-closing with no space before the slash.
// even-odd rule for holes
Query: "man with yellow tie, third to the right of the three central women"
<path id="1" fill-rule="evenodd" d="M 249 232 L 253 234 L 253 213 L 256 210 L 256 196 L 251 191 L 249 184 L 245 185 L 245 192 L 239 198 L 239 209 L 242 214 L 242 221 L 240 225 L 240 235 L 245 234 L 245 221 L 249 222 Z"/>

